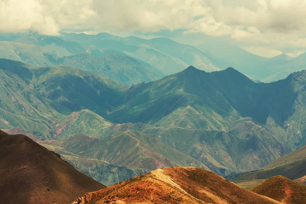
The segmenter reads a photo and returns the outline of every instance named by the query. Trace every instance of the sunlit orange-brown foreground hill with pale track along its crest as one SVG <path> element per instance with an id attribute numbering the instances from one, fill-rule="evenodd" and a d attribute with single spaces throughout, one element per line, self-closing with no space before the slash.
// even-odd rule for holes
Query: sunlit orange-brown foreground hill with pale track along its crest
<path id="1" fill-rule="evenodd" d="M 87 193 L 74 203 L 281 203 L 242 189 L 221 176 L 195 167 L 150 171 L 106 189 Z"/>

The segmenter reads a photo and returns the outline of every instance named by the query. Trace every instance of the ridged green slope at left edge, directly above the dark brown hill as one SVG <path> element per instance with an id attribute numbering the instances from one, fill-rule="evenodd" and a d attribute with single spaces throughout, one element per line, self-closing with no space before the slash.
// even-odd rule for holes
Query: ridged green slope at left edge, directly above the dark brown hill
<path id="1" fill-rule="evenodd" d="M 33 74 L 27 65 L 0 59 L 0 75 L 0 117 L 3 123 L 45 138 L 43 133 L 48 132 L 52 123 L 68 110 L 30 85 Z"/>

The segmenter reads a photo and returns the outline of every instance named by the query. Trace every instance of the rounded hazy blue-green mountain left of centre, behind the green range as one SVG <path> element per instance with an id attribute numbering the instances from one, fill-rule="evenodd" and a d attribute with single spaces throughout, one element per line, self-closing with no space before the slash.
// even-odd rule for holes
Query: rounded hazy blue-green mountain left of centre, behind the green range
<path id="1" fill-rule="evenodd" d="M 151 82 L 164 77 L 157 69 L 124 54 L 113 53 L 94 58 L 89 53 L 82 53 L 61 58 L 58 64 L 98 73 L 125 86 L 144 81 Z"/>

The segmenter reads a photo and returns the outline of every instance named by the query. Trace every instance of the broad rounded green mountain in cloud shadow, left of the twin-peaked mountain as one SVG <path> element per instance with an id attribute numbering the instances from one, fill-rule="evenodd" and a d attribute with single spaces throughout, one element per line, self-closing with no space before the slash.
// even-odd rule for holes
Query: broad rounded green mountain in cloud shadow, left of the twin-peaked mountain
<path id="1" fill-rule="evenodd" d="M 38 92 L 73 111 L 106 115 L 123 100 L 125 88 L 98 74 L 71 67 L 38 67 L 31 72 Z"/>

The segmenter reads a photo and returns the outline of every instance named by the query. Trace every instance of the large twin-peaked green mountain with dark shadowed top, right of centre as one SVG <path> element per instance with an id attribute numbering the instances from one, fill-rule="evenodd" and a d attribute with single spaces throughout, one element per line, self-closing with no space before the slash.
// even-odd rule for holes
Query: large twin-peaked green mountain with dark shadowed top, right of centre
<path id="1" fill-rule="evenodd" d="M 124 104 L 106 118 L 116 123 L 142 122 L 161 129 L 173 126 L 207 131 L 208 138 L 216 138 L 211 146 L 226 149 L 221 158 L 234 150 L 228 157 L 233 161 L 227 159 L 231 164 L 209 154 L 221 165 L 256 170 L 305 144 L 301 115 L 305 110 L 303 75 L 305 72 L 294 73 L 286 80 L 258 84 L 233 68 L 207 73 L 189 67 L 161 80 L 132 86 Z M 210 149 L 206 146 L 209 140 L 203 138 L 198 143 Z M 226 141 L 225 146 L 220 141 Z M 218 150 L 212 152 L 215 151 Z"/>

